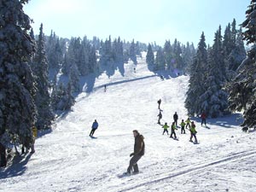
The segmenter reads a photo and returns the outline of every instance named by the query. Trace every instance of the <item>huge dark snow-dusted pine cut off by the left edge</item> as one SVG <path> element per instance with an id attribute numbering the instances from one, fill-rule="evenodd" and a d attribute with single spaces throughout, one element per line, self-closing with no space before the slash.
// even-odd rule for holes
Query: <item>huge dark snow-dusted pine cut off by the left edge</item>
<path id="1" fill-rule="evenodd" d="M 1 1 L 0 142 L 10 143 L 16 137 L 27 146 L 32 143 L 36 107 L 35 82 L 27 63 L 34 46 L 28 34 L 31 20 L 22 10 L 26 3 L 28 0 Z"/>

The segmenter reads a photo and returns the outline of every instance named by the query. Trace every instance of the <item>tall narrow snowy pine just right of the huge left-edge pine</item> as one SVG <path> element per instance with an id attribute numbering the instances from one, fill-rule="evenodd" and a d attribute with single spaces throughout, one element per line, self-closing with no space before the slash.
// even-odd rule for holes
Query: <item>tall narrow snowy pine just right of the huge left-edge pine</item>
<path id="1" fill-rule="evenodd" d="M 36 55 L 32 63 L 32 70 L 37 83 L 35 102 L 38 109 L 38 116 L 36 126 L 39 130 L 49 129 L 54 119 L 54 113 L 50 106 L 49 72 L 44 49 L 43 24 L 41 24 L 39 29 Z"/>

